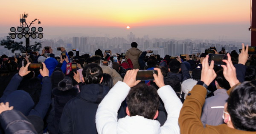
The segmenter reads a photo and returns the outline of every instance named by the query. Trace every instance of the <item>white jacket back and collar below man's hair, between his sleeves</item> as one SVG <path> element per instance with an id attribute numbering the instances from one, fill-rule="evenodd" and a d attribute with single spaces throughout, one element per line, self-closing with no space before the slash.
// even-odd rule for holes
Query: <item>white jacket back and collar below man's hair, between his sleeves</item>
<path id="1" fill-rule="evenodd" d="M 160 134 L 160 123 L 143 116 L 126 116 L 118 120 L 117 134 Z"/>

